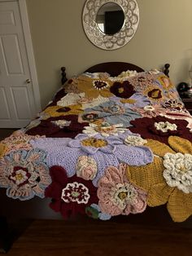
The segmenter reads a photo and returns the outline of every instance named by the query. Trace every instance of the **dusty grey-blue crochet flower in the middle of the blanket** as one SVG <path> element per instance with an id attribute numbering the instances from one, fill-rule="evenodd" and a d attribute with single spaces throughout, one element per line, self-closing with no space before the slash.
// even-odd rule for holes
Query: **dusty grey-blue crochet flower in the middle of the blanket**
<path id="1" fill-rule="evenodd" d="M 115 101 L 108 101 L 94 108 L 85 109 L 85 113 L 98 113 L 98 118 L 104 118 L 111 125 L 123 124 L 124 127 L 131 126 L 130 121 L 141 117 L 136 112 L 124 105 L 116 104 Z"/>

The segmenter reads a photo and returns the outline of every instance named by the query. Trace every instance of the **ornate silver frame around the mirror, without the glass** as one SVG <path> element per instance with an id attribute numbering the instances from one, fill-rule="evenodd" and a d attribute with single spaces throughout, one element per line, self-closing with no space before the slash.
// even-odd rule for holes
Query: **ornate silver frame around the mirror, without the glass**
<path id="1" fill-rule="evenodd" d="M 106 3 L 116 3 L 124 11 L 124 24 L 113 35 L 103 33 L 96 22 L 98 10 Z M 83 27 L 90 42 L 103 50 L 116 50 L 127 44 L 137 31 L 139 9 L 136 0 L 86 0 L 82 15 Z"/>

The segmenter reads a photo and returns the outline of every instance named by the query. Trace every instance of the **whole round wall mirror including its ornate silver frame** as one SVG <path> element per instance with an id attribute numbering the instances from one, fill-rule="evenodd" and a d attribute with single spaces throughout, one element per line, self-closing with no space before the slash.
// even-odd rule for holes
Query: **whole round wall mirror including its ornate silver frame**
<path id="1" fill-rule="evenodd" d="M 95 46 L 103 50 L 118 49 L 128 43 L 137 31 L 137 1 L 86 0 L 82 22 L 86 36 Z"/>

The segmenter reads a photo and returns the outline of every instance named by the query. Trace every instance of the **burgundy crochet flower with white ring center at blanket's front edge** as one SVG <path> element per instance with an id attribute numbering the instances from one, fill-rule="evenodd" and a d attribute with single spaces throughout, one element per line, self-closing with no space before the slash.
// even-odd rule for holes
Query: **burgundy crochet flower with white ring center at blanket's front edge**
<path id="1" fill-rule="evenodd" d="M 97 190 L 85 179 L 68 178 L 61 166 L 50 168 L 52 183 L 46 188 L 46 197 L 52 198 L 50 208 L 60 212 L 63 218 L 85 214 L 85 207 L 98 202 Z"/>

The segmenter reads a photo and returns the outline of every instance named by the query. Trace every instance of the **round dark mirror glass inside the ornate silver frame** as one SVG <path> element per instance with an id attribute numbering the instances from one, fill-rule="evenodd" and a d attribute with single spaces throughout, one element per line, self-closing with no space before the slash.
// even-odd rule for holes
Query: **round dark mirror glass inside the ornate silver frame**
<path id="1" fill-rule="evenodd" d="M 101 32 L 113 35 L 124 25 L 124 11 L 116 3 L 106 3 L 98 10 L 96 23 Z"/>

